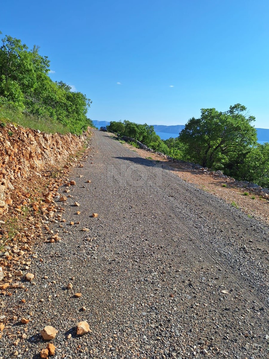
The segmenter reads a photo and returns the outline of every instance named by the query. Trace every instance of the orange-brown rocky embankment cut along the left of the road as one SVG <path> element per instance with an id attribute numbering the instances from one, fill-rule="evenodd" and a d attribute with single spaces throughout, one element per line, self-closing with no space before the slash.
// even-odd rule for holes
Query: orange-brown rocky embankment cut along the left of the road
<path id="1" fill-rule="evenodd" d="M 39 130 L 15 127 L 12 124 L 0 130 L 0 215 L 12 204 L 12 191 L 21 181 L 47 166 L 59 166 L 80 150 L 86 134 L 46 134 Z"/>

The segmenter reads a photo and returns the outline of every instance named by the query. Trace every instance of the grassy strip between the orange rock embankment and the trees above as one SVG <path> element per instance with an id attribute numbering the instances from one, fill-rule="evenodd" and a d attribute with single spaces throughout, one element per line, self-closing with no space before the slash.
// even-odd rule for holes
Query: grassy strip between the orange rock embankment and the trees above
<path id="1" fill-rule="evenodd" d="M 15 112 L 11 109 L 0 109 L 0 126 L 5 127 L 7 123 L 12 123 L 14 126 L 20 125 L 28 129 L 39 130 L 41 132 L 52 134 L 59 133 L 65 135 L 70 132 L 66 126 L 50 117 L 44 118 L 30 114 L 26 115 L 24 113 Z M 9 136 L 12 136 L 12 134 L 9 134 Z"/>

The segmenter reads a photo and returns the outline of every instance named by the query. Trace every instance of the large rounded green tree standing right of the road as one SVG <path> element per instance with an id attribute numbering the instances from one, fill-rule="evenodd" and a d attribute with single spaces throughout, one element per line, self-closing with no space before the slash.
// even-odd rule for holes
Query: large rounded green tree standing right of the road
<path id="1" fill-rule="evenodd" d="M 202 108 L 200 118 L 191 118 L 179 134 L 185 158 L 204 167 L 228 167 L 256 144 L 253 121 L 255 117 L 247 116 L 246 107 L 239 103 L 226 112 Z"/>

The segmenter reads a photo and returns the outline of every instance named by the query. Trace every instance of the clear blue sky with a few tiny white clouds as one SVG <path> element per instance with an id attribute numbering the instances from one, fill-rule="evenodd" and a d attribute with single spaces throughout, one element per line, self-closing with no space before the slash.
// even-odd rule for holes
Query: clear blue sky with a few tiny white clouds
<path id="1" fill-rule="evenodd" d="M 241 103 L 269 128 L 268 0 L 11 3 L 3 35 L 39 45 L 92 120 L 180 125 Z"/>

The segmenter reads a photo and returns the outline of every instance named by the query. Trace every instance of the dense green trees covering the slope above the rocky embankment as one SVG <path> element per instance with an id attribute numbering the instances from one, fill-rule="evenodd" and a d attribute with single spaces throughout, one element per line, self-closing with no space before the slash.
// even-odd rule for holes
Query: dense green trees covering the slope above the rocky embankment
<path id="1" fill-rule="evenodd" d="M 16 113 L 26 123 L 29 117 L 29 123 L 50 123 L 74 134 L 93 126 L 87 118 L 91 100 L 62 81 L 52 81 L 48 73 L 49 60 L 37 46 L 29 50 L 19 39 L 5 36 L 0 47 L 1 117 Z"/>

